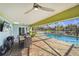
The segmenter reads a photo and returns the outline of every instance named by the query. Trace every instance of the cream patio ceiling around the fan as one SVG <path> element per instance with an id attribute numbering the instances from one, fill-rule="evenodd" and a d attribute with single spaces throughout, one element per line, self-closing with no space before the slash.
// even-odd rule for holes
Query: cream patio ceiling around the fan
<path id="1" fill-rule="evenodd" d="M 7 16 L 8 19 L 19 24 L 44 24 L 38 22 L 40 20 L 46 19 L 52 15 L 56 15 L 64 10 L 77 5 L 77 3 L 38 3 L 41 6 L 52 8 L 54 12 L 47 12 L 43 10 L 33 10 L 30 13 L 24 15 L 24 12 L 32 8 L 33 3 L 2 3 L 0 4 L 0 13 Z M 37 23 L 36 23 L 37 22 Z M 47 23 L 48 21 L 46 21 Z"/>

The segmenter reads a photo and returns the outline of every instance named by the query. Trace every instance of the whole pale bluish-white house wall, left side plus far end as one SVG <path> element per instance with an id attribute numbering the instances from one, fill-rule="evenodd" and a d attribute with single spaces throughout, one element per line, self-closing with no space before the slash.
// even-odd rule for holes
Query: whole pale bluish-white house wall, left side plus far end
<path id="1" fill-rule="evenodd" d="M 6 39 L 6 37 L 8 36 L 14 36 L 14 41 L 18 42 L 18 36 L 19 36 L 19 27 L 24 27 L 25 28 L 25 33 L 26 33 L 26 25 L 16 25 L 16 24 L 12 24 L 10 21 L 8 21 L 7 19 L 5 19 L 4 17 L 0 16 L 0 20 L 5 20 L 6 22 L 9 23 L 10 25 L 10 30 L 8 29 L 8 31 L 6 31 L 6 27 L 3 28 L 3 31 L 0 32 L 0 45 L 3 44 L 3 41 Z"/>

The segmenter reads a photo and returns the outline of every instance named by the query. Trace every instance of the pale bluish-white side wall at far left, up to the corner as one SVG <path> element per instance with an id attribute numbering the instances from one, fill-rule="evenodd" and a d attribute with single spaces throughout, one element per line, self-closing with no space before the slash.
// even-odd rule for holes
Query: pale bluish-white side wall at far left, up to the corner
<path id="1" fill-rule="evenodd" d="M 3 20 L 3 21 L 5 20 L 6 22 L 8 22 L 7 19 L 5 19 L 1 16 L 0 16 L 0 20 Z M 10 24 L 10 26 L 11 26 L 10 30 L 5 31 L 5 29 L 7 29 L 7 28 L 3 27 L 3 31 L 0 32 L 0 46 L 3 44 L 3 41 L 6 39 L 6 37 L 12 35 L 12 33 L 11 33 L 12 32 L 12 24 Z"/>

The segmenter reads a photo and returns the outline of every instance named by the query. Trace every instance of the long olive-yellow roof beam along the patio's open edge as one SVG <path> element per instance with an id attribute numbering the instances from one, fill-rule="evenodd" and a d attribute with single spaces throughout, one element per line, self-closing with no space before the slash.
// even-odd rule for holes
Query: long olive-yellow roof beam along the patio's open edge
<path id="1" fill-rule="evenodd" d="M 38 26 L 46 23 L 52 23 L 56 21 L 61 21 L 61 20 L 66 20 L 68 18 L 73 18 L 73 17 L 79 17 L 79 5 L 72 7 L 70 9 L 67 9 L 61 13 L 58 13 L 54 16 L 48 17 L 46 19 L 43 19 L 41 21 L 38 21 L 31 26 Z"/>

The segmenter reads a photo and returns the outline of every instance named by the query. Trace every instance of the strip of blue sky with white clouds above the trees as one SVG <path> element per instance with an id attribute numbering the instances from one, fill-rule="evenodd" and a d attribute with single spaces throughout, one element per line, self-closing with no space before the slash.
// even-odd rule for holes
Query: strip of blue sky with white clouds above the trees
<path id="1" fill-rule="evenodd" d="M 79 18 L 72 18 L 64 21 L 54 22 L 51 24 L 48 24 L 51 28 L 54 28 L 55 26 L 67 26 L 69 24 L 77 24 L 79 26 Z M 45 28 L 48 28 L 47 25 L 44 25 Z"/>

